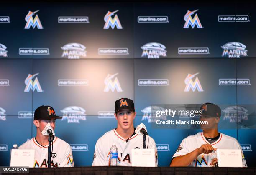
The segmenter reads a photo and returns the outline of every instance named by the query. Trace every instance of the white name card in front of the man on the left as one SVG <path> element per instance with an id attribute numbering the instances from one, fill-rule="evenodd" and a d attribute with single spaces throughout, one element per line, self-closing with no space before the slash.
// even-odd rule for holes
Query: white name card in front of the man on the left
<path id="1" fill-rule="evenodd" d="M 12 149 L 11 167 L 34 167 L 35 150 Z"/>

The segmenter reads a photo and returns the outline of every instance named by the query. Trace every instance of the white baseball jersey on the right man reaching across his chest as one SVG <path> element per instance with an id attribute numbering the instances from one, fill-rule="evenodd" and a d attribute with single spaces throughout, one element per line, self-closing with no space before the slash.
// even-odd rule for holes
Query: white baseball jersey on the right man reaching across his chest
<path id="1" fill-rule="evenodd" d="M 179 145 L 179 148 L 177 149 L 176 153 L 172 156 L 172 158 L 177 156 L 186 155 L 188 153 L 191 153 L 197 148 L 200 148 L 203 144 L 210 144 L 204 137 L 203 133 L 197 133 L 195 135 L 190 135 L 187 138 L 184 138 L 182 140 L 182 143 Z M 240 149 L 241 146 L 238 143 L 238 141 L 230 137 L 228 135 L 220 133 L 220 138 L 213 142 L 212 144 L 213 148 L 219 148 L 219 149 Z M 243 160 L 243 167 L 247 167 L 246 160 L 244 158 L 243 152 L 242 152 L 242 160 Z M 210 154 L 200 154 L 195 160 L 193 160 L 189 166 L 193 167 L 208 167 L 211 166 L 211 153 Z"/>

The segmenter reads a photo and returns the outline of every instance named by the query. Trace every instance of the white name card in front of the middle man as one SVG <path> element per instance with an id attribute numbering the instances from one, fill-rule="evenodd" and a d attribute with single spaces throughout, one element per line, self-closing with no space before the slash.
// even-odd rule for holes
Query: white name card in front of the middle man
<path id="1" fill-rule="evenodd" d="M 132 149 L 133 167 L 155 167 L 155 149 Z"/>

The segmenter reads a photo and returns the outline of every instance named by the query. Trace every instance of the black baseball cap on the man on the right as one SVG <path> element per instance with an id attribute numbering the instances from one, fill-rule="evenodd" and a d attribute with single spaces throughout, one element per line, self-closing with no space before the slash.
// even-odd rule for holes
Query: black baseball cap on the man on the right
<path id="1" fill-rule="evenodd" d="M 200 110 L 204 115 L 208 115 L 209 117 L 220 117 L 221 110 L 217 105 L 207 102 L 201 105 Z"/>

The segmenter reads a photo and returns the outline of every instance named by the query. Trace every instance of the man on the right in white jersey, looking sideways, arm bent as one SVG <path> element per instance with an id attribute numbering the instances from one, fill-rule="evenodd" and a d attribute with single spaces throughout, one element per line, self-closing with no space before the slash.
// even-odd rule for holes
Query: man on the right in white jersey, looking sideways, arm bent
<path id="1" fill-rule="evenodd" d="M 215 104 L 205 103 L 200 107 L 200 121 L 208 124 L 200 125 L 203 132 L 190 135 L 182 140 L 172 157 L 170 166 L 217 166 L 217 158 L 211 158 L 211 153 L 219 149 L 241 149 L 238 141 L 228 135 L 218 132 L 221 110 Z M 242 152 L 243 167 L 247 167 Z"/>

